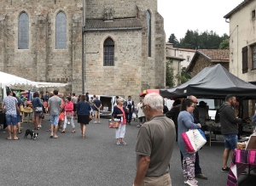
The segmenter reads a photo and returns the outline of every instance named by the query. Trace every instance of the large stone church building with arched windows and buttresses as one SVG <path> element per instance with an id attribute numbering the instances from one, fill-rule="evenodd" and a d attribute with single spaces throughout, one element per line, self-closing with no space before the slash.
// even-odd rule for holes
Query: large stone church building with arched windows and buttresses
<path id="1" fill-rule="evenodd" d="M 138 100 L 165 87 L 165 47 L 157 0 L 0 2 L 0 71 L 69 83 L 62 93 Z"/>

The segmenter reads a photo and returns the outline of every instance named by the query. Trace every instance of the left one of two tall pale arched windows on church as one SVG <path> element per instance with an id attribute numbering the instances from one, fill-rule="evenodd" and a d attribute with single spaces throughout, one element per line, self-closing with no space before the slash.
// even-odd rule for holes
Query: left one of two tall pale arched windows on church
<path id="1" fill-rule="evenodd" d="M 29 46 L 29 20 L 28 15 L 22 12 L 18 24 L 18 49 L 28 49 Z"/>

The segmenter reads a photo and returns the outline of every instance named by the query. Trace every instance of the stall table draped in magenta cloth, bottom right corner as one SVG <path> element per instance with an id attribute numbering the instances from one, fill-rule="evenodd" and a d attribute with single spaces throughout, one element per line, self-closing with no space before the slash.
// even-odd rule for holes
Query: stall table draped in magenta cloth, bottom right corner
<path id="1" fill-rule="evenodd" d="M 256 150 L 235 149 L 230 165 L 227 186 L 236 186 L 237 178 L 246 168 L 249 169 L 248 176 L 252 170 L 256 172 Z"/>

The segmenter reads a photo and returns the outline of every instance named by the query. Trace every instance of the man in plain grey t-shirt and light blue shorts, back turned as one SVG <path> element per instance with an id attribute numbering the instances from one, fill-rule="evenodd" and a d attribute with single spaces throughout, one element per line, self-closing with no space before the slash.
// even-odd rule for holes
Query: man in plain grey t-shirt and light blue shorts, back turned
<path id="1" fill-rule="evenodd" d="M 54 96 L 49 98 L 48 110 L 50 115 L 50 138 L 58 138 L 58 123 L 61 109 L 61 99 L 58 97 L 58 91 L 54 91 Z M 53 130 L 55 130 L 55 136 L 53 136 Z"/>

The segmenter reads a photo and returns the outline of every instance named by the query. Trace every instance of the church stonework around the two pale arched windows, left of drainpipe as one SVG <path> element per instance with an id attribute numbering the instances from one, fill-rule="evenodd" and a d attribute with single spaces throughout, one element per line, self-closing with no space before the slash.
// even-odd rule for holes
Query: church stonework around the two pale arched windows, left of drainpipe
<path id="1" fill-rule="evenodd" d="M 82 91 L 82 0 L 5 1 L 0 6 L 1 70 L 42 82 L 69 82 L 62 91 Z M 67 49 L 55 49 L 55 17 L 67 17 Z M 18 22 L 21 12 L 29 17 L 29 48 L 18 49 Z M 3 19 L 3 15 L 5 15 Z M 6 41 L 3 41 L 3 40 Z M 5 43 L 5 45 L 4 45 Z"/>

